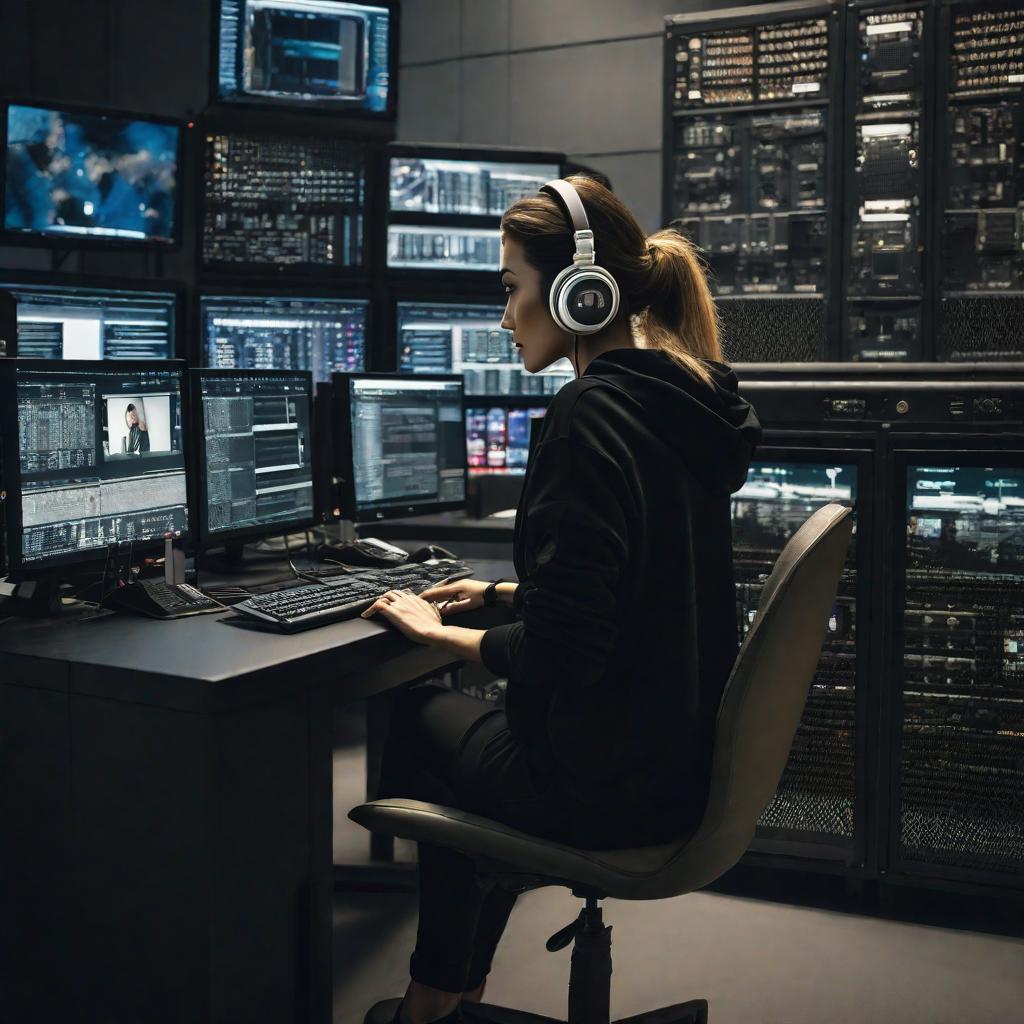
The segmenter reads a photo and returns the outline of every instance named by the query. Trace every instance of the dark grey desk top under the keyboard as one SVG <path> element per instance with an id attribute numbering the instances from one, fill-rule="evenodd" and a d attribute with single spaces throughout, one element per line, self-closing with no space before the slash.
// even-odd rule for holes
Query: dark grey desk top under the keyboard
<path id="1" fill-rule="evenodd" d="M 473 565 L 480 579 L 514 572 L 507 561 Z M 0 664 L 8 681 L 20 685 L 209 713 L 430 650 L 362 618 L 292 635 L 242 622 L 230 611 L 171 622 L 92 609 L 63 618 L 12 617 L 0 624 Z"/>

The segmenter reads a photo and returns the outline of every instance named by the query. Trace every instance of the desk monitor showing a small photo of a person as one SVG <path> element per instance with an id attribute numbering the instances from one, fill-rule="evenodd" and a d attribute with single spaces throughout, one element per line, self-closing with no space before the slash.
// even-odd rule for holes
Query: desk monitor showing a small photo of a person
<path id="1" fill-rule="evenodd" d="M 0 360 L 8 570 L 189 532 L 183 362 Z"/>

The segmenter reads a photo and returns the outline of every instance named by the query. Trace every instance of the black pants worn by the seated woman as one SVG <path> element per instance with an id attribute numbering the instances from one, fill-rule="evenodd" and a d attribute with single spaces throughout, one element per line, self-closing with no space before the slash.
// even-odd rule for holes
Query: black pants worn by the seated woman
<path id="1" fill-rule="evenodd" d="M 550 838 L 564 825 L 531 777 L 505 713 L 436 684 L 398 696 L 378 796 L 458 807 Z M 419 844 L 419 882 L 410 975 L 449 992 L 476 988 L 490 970 L 515 894 L 477 878 L 469 857 L 426 843 Z"/>

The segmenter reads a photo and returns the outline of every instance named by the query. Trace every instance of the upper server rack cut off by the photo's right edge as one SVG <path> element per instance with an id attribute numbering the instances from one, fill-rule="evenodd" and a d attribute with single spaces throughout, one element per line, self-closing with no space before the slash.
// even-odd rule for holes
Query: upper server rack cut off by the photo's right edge
<path id="1" fill-rule="evenodd" d="M 1024 4 L 943 0 L 938 37 L 937 357 L 1024 358 Z"/>

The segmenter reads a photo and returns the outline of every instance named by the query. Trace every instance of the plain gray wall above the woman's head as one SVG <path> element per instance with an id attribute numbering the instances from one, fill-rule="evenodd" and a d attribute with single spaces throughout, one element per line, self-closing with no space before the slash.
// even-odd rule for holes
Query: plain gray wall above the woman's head
<path id="1" fill-rule="evenodd" d="M 743 0 L 403 0 L 398 138 L 567 153 L 660 226 L 666 14 Z"/>

